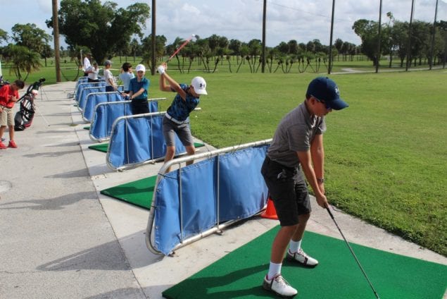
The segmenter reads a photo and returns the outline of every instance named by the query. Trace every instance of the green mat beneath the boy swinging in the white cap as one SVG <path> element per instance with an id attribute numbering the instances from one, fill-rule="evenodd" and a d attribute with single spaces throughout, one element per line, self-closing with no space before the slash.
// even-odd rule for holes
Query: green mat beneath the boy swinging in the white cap
<path id="1" fill-rule="evenodd" d="M 101 194 L 130 202 L 133 205 L 151 208 L 153 188 L 155 187 L 157 176 L 142 178 L 138 181 L 125 183 L 112 188 L 104 189 Z"/>

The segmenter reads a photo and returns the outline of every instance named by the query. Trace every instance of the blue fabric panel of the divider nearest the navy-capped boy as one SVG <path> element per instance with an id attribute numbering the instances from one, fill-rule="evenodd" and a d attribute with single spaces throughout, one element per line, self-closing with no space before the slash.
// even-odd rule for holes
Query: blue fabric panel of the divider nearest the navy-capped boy
<path id="1" fill-rule="evenodd" d="M 248 147 L 159 175 L 151 226 L 156 250 L 169 255 L 185 238 L 218 222 L 262 211 L 268 191 L 260 167 L 267 147 Z"/>

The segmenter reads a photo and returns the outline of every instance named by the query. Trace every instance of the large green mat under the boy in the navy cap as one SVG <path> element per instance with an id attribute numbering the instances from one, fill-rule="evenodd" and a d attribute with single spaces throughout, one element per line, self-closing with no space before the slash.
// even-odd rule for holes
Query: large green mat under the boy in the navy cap
<path id="1" fill-rule="evenodd" d="M 168 288 L 163 297 L 275 298 L 262 288 L 262 282 L 269 267 L 272 240 L 278 230 L 279 226 L 272 228 Z M 381 299 L 442 298 L 447 286 L 447 266 L 352 243 L 351 247 Z M 376 298 L 344 240 L 306 232 L 303 249 L 320 264 L 308 269 L 284 260 L 282 275 L 298 289 L 296 298 Z"/>

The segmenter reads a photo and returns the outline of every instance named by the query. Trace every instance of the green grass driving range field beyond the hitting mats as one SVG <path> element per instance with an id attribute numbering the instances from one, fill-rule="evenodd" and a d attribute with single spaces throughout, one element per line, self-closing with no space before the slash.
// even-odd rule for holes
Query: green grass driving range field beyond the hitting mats
<path id="1" fill-rule="evenodd" d="M 120 62 L 115 61 L 118 68 Z M 374 70 L 366 61 L 339 64 L 343 67 L 334 63 L 334 71 Z M 74 74 L 76 68 L 72 68 Z M 202 110 L 191 114 L 191 129 L 215 147 L 272 138 L 282 116 L 303 101 L 308 83 L 317 76 L 309 72 L 252 74 L 248 66 L 241 73 L 229 73 L 225 62 L 215 73 L 179 73 L 175 63 L 170 69 L 180 83 L 189 83 L 195 75 L 206 78 L 208 96 L 201 97 Z M 320 71 L 324 75 L 325 70 Z M 30 78 L 45 76 L 46 83 L 51 83 L 55 82 L 53 73 L 49 67 Z M 173 97 L 158 90 L 158 76 L 147 77 L 151 97 Z M 327 116 L 329 202 L 446 256 L 447 70 L 330 77 L 350 107 Z M 165 110 L 170 101 L 160 104 Z"/>

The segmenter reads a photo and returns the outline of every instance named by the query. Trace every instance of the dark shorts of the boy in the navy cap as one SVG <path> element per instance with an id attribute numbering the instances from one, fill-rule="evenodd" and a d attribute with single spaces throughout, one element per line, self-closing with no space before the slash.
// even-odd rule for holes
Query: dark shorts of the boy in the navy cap
<path id="1" fill-rule="evenodd" d="M 281 226 L 296 225 L 298 215 L 312 211 L 308 186 L 301 169 L 293 169 L 265 157 L 261 173 Z"/>

